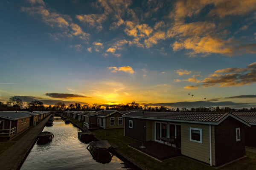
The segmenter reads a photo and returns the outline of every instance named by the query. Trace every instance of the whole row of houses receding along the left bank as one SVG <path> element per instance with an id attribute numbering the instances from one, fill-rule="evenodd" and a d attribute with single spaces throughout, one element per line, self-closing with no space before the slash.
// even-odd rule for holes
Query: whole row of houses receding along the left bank
<path id="1" fill-rule="evenodd" d="M 0 139 L 10 139 L 47 117 L 49 111 L 0 112 Z"/>

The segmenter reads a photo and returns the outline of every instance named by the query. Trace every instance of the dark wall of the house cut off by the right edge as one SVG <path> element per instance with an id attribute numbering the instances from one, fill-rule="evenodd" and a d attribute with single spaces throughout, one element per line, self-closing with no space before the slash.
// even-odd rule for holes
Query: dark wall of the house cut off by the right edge
<path id="1" fill-rule="evenodd" d="M 245 146 L 256 147 L 256 125 L 245 127 Z"/>

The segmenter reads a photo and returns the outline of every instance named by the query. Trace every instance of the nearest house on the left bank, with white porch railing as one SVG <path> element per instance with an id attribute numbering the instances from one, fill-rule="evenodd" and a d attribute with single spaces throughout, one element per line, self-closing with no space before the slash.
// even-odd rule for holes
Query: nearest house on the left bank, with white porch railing
<path id="1" fill-rule="evenodd" d="M 21 112 L 0 112 L 0 138 L 10 139 L 29 129 L 30 117 L 31 115 Z"/>

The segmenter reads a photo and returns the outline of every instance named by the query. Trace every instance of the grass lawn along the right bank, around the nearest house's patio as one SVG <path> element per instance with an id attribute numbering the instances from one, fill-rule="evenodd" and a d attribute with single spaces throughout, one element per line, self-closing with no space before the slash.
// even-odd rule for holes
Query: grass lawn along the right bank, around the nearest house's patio
<path id="1" fill-rule="evenodd" d="M 116 144 L 118 146 L 116 150 L 148 170 L 215 170 L 213 167 L 209 167 L 206 164 L 193 161 L 183 156 L 168 159 L 163 162 L 152 159 L 151 157 L 128 147 L 128 144 L 138 141 L 124 136 L 124 129 L 99 129 L 94 130 L 93 133 L 96 133 L 96 136 L 99 139 L 108 140 L 109 142 Z M 256 170 L 256 154 L 247 152 L 246 156 L 247 158 L 221 167 L 219 170 Z"/>

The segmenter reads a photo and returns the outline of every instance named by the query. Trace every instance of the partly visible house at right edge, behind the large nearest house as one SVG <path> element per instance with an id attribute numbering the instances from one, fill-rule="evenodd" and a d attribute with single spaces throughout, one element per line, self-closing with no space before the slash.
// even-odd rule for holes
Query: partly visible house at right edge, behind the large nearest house
<path id="1" fill-rule="evenodd" d="M 251 125 L 245 128 L 245 146 L 256 147 L 256 112 L 233 112 L 232 114 Z"/>

